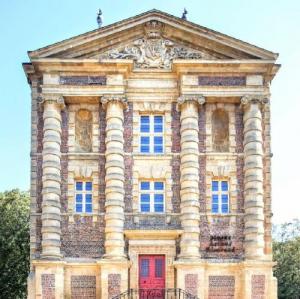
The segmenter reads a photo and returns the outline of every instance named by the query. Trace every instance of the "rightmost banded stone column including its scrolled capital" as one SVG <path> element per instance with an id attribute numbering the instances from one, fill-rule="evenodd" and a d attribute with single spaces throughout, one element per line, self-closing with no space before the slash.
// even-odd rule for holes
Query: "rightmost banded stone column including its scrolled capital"
<path id="1" fill-rule="evenodd" d="M 264 97 L 244 96 L 245 256 L 264 256 L 264 191 L 262 113 Z"/>

